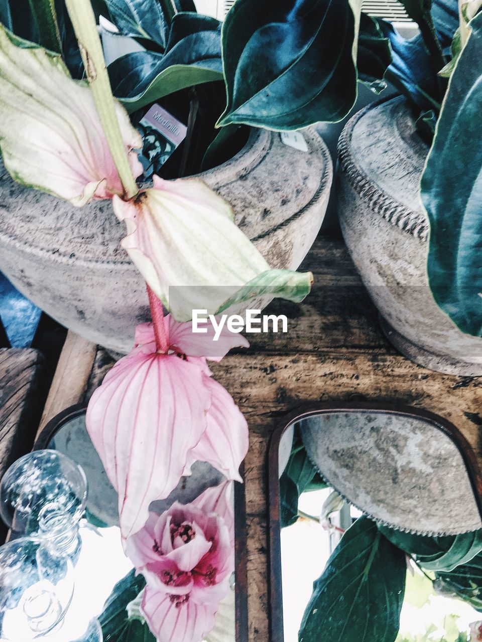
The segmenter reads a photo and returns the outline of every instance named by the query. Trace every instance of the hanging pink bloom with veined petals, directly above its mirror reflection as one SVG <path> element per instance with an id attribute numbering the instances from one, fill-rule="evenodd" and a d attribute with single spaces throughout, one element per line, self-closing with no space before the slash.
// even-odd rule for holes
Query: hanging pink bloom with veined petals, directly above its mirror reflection
<path id="1" fill-rule="evenodd" d="M 156 342 L 153 324 L 139 325 L 136 347 L 105 376 L 87 408 L 87 430 L 118 492 L 123 539 L 145 524 L 150 502 L 166 498 L 196 460 L 239 480 L 248 447 L 246 421 L 211 378 L 206 358 L 219 361 L 249 343 L 227 330 L 214 342 L 213 332 L 192 334 L 191 324 L 170 316 L 157 323 L 163 338 Z"/>

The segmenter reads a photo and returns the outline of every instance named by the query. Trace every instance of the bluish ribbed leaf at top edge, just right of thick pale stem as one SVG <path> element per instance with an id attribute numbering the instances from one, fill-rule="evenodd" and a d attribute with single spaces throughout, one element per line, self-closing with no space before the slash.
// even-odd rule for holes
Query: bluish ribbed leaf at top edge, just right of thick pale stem
<path id="1" fill-rule="evenodd" d="M 112 22 L 123 35 L 167 44 L 169 23 L 157 0 L 105 0 Z"/>

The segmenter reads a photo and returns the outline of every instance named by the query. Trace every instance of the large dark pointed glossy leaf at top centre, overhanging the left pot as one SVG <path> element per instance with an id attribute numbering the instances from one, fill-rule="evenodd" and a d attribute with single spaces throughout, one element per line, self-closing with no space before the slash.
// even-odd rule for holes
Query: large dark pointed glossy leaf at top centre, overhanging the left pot
<path id="1" fill-rule="evenodd" d="M 361 0 L 237 0 L 222 28 L 219 125 L 275 130 L 339 121 L 357 88 Z"/>

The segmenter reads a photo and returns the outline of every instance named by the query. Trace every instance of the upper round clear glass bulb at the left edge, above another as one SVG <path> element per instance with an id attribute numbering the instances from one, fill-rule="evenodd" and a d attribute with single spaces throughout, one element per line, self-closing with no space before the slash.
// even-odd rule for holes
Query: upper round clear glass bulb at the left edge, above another
<path id="1" fill-rule="evenodd" d="M 78 528 L 86 501 L 84 471 L 55 450 L 24 455 L 0 483 L 0 516 L 13 537 L 46 535 L 51 528 L 58 535 L 61 527 L 68 531 L 73 524 Z"/>

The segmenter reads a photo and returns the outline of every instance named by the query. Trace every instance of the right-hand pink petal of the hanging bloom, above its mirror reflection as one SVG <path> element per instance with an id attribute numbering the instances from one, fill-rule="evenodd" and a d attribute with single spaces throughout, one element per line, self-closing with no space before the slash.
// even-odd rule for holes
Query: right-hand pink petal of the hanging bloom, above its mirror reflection
<path id="1" fill-rule="evenodd" d="M 190 455 L 213 465 L 228 479 L 242 482 L 239 467 L 249 447 L 247 422 L 226 388 L 206 376 L 204 385 L 211 392 L 208 426 Z"/>

